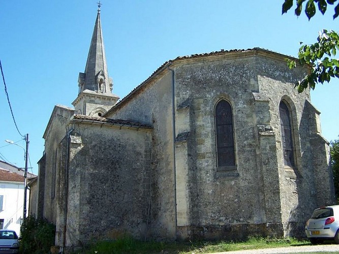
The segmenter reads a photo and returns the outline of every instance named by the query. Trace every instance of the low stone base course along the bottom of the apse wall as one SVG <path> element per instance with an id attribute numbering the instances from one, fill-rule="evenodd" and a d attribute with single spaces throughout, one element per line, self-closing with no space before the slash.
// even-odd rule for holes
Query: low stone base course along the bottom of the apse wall
<path id="1" fill-rule="evenodd" d="M 249 236 L 283 238 L 281 223 L 186 226 L 177 228 L 177 240 L 244 240 Z"/>

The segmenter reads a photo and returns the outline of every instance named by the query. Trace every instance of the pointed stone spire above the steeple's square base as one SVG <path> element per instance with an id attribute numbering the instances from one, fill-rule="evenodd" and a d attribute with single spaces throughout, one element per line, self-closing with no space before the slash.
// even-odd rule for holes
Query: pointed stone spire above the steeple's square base
<path id="1" fill-rule="evenodd" d="M 101 29 L 100 6 L 89 46 L 85 73 L 79 75 L 79 93 L 85 89 L 107 93 L 112 91 L 112 82 L 108 76 L 104 39 Z"/>

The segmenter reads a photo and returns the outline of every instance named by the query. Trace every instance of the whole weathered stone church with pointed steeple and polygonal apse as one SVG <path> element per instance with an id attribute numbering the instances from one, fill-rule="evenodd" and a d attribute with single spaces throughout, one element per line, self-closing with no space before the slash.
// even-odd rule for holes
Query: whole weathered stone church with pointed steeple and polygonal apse
<path id="1" fill-rule="evenodd" d="M 43 135 L 35 215 L 56 225 L 55 245 L 304 237 L 334 203 L 333 177 L 320 112 L 294 89 L 307 69 L 287 57 L 177 57 L 119 100 L 99 7 L 74 108 L 56 105 Z"/>

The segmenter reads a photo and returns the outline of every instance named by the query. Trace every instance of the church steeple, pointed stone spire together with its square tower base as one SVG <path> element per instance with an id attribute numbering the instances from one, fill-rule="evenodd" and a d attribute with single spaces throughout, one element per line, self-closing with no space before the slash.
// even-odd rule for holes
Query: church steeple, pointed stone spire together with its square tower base
<path id="1" fill-rule="evenodd" d="M 79 73 L 79 94 L 72 103 L 79 114 L 104 114 L 119 99 L 112 94 L 113 82 L 108 76 L 104 39 L 101 29 L 100 7 L 90 41 L 84 73 Z M 89 107 L 88 105 L 93 105 Z M 97 108 L 95 108 L 97 106 Z M 99 112 L 99 113 L 98 113 Z"/>

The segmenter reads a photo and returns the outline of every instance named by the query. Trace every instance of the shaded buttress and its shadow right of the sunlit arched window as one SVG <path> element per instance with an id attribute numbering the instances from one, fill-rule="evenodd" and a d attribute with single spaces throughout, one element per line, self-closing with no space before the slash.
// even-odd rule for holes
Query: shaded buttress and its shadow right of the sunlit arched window
<path id="1" fill-rule="evenodd" d="M 304 227 L 314 209 L 335 203 L 326 149 L 328 142 L 319 130 L 319 114 L 306 100 L 299 125 L 301 160 L 295 179 L 298 204 L 290 211 L 286 225 L 286 235 L 296 238 L 306 238 Z"/>

